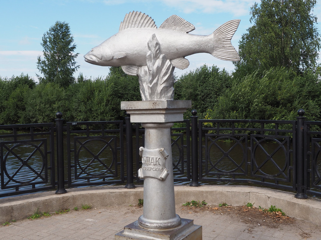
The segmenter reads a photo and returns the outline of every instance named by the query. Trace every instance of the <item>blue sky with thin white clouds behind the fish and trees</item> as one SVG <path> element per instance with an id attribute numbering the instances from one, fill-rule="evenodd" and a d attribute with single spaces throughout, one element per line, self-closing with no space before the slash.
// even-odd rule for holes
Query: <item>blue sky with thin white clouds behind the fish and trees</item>
<path id="1" fill-rule="evenodd" d="M 56 21 L 69 23 L 79 53 L 80 65 L 75 77 L 83 73 L 87 77 L 106 76 L 108 67 L 86 63 L 83 55 L 118 32 L 126 13 L 139 11 L 152 17 L 157 26 L 176 14 L 195 26 L 191 33 L 208 35 L 232 19 L 240 19 L 239 29 L 232 38 L 238 49 L 242 34 L 251 26 L 250 7 L 255 0 L 0 0 L 0 76 L 11 77 L 21 73 L 36 81 L 37 56 L 42 54 L 41 38 Z M 314 14 L 321 16 L 317 3 Z M 219 60 L 210 54 L 188 56 L 190 66 L 176 69 L 176 75 L 188 73 L 207 64 L 217 65 L 228 71 L 234 69 L 231 62 Z"/>

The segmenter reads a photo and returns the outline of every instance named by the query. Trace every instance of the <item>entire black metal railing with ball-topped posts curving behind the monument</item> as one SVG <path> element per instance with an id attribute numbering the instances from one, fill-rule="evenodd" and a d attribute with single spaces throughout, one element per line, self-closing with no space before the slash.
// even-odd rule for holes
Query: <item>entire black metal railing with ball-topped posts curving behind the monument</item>
<path id="1" fill-rule="evenodd" d="M 321 122 L 208 120 L 176 123 L 171 129 L 176 183 L 255 184 L 321 196 Z M 0 126 L 0 197 L 65 186 L 141 184 L 140 124 L 122 121 Z M 126 140 L 126 141 L 125 141 Z M 56 152 L 56 158 L 55 153 Z"/>

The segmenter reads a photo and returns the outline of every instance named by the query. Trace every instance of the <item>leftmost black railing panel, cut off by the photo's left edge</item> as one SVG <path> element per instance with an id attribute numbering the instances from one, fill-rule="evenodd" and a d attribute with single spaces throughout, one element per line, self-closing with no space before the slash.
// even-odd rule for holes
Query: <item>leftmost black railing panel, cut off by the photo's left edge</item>
<path id="1" fill-rule="evenodd" d="M 54 189 L 54 124 L 4 125 L 1 130 L 0 197 Z"/>

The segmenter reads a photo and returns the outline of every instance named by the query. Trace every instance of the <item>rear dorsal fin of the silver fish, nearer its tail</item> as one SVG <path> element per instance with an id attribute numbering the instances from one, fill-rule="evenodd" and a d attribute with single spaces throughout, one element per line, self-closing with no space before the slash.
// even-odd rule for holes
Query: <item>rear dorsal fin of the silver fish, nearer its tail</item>
<path id="1" fill-rule="evenodd" d="M 171 15 L 160 25 L 160 28 L 184 33 L 189 33 L 195 30 L 195 27 L 192 23 L 181 17 L 178 17 L 177 15 Z"/>

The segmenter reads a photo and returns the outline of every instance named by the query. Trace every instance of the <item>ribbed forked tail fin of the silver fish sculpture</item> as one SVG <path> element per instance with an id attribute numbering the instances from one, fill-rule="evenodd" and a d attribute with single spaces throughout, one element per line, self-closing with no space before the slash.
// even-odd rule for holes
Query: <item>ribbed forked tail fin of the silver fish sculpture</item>
<path id="1" fill-rule="evenodd" d="M 212 33 L 214 50 L 211 54 L 214 57 L 227 61 L 240 60 L 238 52 L 231 44 L 231 39 L 240 21 L 239 19 L 228 21 Z"/>

